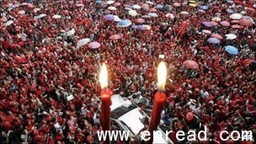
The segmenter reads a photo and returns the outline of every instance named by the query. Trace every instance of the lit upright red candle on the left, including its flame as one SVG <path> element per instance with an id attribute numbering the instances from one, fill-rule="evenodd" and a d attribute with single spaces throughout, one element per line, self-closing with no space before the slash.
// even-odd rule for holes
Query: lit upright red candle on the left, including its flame
<path id="1" fill-rule="evenodd" d="M 101 67 L 99 73 L 99 83 L 101 86 L 100 99 L 101 99 L 101 113 L 100 113 L 100 124 L 103 131 L 110 131 L 110 105 L 112 91 L 108 88 L 108 70 L 105 64 Z M 109 143 L 109 136 L 104 141 L 105 144 Z"/>

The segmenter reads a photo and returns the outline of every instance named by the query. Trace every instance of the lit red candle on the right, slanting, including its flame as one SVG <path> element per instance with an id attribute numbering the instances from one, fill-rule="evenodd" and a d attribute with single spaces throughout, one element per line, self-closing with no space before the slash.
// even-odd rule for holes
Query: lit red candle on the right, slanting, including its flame
<path id="1" fill-rule="evenodd" d="M 167 68 L 162 61 L 157 67 L 157 88 L 158 92 L 155 93 L 154 104 L 152 109 L 152 116 L 150 120 L 150 125 L 148 131 L 150 132 L 150 139 L 147 143 L 152 143 L 153 141 L 153 131 L 157 130 L 157 125 L 161 120 L 161 113 L 163 109 L 163 104 L 166 100 L 166 94 L 164 93 L 165 83 L 167 77 Z"/>

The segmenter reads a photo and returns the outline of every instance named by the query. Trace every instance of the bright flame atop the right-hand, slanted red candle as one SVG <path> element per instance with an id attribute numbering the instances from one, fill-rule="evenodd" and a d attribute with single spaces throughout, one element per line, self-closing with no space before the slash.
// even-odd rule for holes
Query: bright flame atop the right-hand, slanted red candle
<path id="1" fill-rule="evenodd" d="M 167 68 L 163 61 L 160 62 L 160 64 L 157 67 L 157 88 L 160 91 L 163 91 L 165 88 L 166 83 L 166 77 L 167 77 Z"/>

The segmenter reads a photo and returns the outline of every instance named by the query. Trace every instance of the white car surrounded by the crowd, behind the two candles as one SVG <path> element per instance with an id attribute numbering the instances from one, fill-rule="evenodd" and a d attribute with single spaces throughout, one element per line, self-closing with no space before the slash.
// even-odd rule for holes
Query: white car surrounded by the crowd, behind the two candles
<path id="1" fill-rule="evenodd" d="M 132 104 L 129 99 L 120 97 L 119 94 L 111 96 L 111 122 L 118 126 L 120 131 L 129 131 L 130 137 L 139 136 L 141 131 L 147 130 L 147 125 L 141 122 L 141 119 L 147 117 L 150 120 L 152 109 L 145 109 L 143 111 L 136 104 Z M 157 127 L 157 131 L 161 135 L 153 137 L 155 144 L 173 144 L 173 142 L 165 136 L 165 131 Z M 141 136 L 139 136 L 141 138 Z M 142 139 L 141 139 L 142 140 Z M 131 141 L 133 141 L 131 139 Z"/>

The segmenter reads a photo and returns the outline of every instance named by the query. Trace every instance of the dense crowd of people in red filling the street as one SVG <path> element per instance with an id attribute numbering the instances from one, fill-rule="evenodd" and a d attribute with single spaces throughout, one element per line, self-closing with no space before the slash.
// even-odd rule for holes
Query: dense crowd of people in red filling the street
<path id="1" fill-rule="evenodd" d="M 207 125 L 209 139 L 228 144 L 237 141 L 221 141 L 220 131 L 248 130 L 255 137 L 255 6 L 218 0 L 1 0 L 0 143 L 99 143 L 103 62 L 109 88 L 124 97 L 140 92 L 147 104 L 157 91 L 157 64 L 166 62 L 163 120 L 169 131 Z M 105 19 L 107 14 L 115 19 Z M 132 24 L 120 26 L 121 19 Z M 86 38 L 99 48 L 77 46 Z M 197 67 L 185 65 L 188 60 Z"/>

